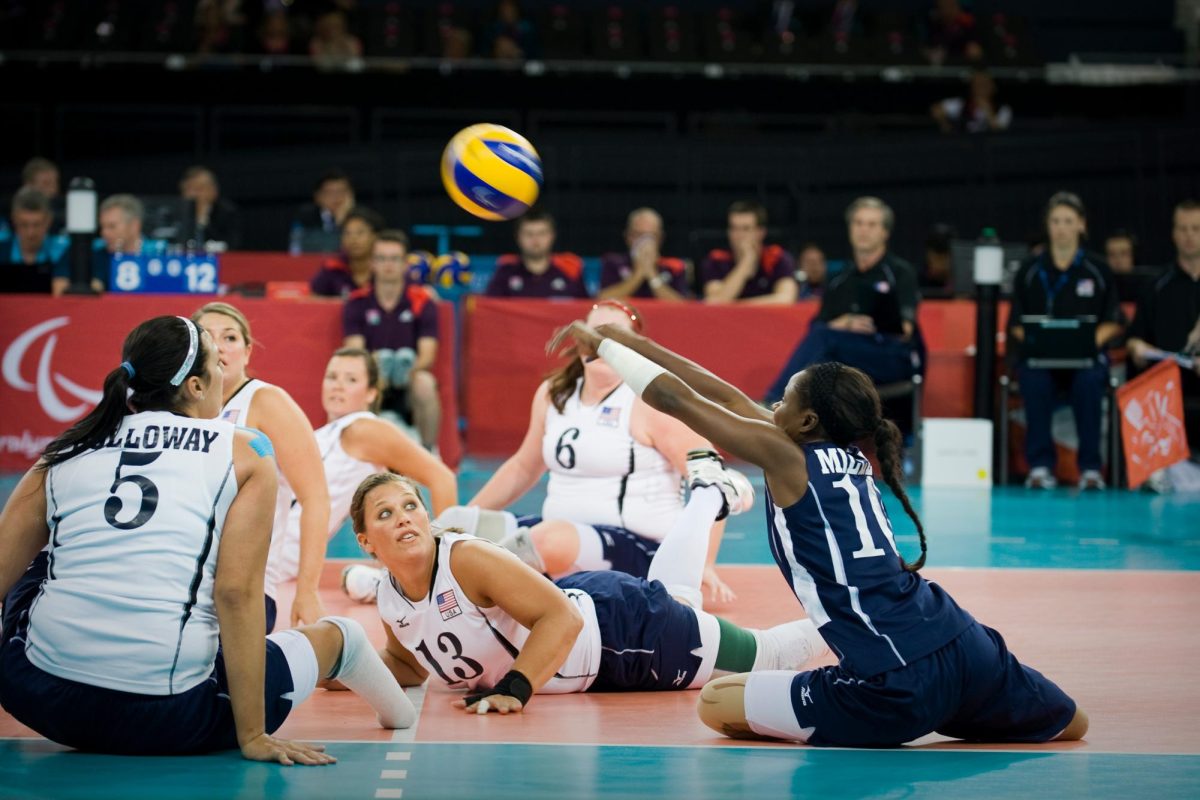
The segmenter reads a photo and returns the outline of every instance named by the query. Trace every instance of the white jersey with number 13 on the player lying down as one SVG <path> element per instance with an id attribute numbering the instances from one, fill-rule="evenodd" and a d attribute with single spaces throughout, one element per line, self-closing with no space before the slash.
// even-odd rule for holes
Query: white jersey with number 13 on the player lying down
<path id="1" fill-rule="evenodd" d="M 439 539 L 430 594 L 412 601 L 388 576 L 379 587 L 379 615 L 396 639 L 428 670 L 430 682 L 436 688 L 491 688 L 512 668 L 529 631 L 499 607 L 479 608 L 470 602 L 450 571 L 450 551 L 457 542 L 485 540 L 452 533 Z M 583 615 L 583 630 L 566 661 L 538 690 L 544 694 L 584 692 L 600 667 L 595 603 L 584 591 L 566 589 L 564 593 Z"/>

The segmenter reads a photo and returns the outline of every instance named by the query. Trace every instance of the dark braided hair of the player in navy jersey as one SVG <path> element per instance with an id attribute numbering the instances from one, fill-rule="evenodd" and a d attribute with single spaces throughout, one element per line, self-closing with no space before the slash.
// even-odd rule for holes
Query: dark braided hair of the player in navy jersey
<path id="1" fill-rule="evenodd" d="M 809 367 L 804 374 L 805 380 L 797 385 L 802 404 L 816 413 L 830 441 L 839 447 L 868 438 L 875 441 L 883 481 L 900 499 L 905 513 L 917 525 L 920 557 L 912 564 L 900 557 L 901 566 L 908 572 L 916 572 L 925 565 L 925 528 L 920 524 L 920 517 L 913 511 L 908 493 L 904 489 L 900 428 L 892 420 L 883 417 L 880 395 L 875 391 L 871 379 L 862 371 L 829 361 Z"/>

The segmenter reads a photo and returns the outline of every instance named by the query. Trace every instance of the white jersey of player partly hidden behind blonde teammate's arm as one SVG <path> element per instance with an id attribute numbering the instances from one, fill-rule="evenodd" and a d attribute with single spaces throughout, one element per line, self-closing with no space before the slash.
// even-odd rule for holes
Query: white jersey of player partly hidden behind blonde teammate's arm
<path id="1" fill-rule="evenodd" d="M 329 485 L 329 537 L 332 539 L 350 516 L 350 500 L 367 475 L 386 473 L 382 464 L 359 461 L 342 449 L 342 432 L 350 423 L 379 419 L 371 411 L 347 414 L 329 425 L 317 428 L 317 447 L 325 465 L 325 482 Z M 272 584 L 294 581 L 300 569 L 300 504 L 292 497 L 287 523 L 271 539 L 271 553 L 266 559 L 266 575 Z"/>

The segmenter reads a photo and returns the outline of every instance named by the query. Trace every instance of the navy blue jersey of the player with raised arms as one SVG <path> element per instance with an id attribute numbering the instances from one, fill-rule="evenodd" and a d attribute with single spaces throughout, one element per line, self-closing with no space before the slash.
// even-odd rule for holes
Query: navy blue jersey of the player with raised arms
<path id="1" fill-rule="evenodd" d="M 870 676 L 943 646 L 974 620 L 900 564 L 892 523 L 857 447 L 804 446 L 809 489 L 786 509 L 767 491 L 770 551 L 841 666 Z"/>

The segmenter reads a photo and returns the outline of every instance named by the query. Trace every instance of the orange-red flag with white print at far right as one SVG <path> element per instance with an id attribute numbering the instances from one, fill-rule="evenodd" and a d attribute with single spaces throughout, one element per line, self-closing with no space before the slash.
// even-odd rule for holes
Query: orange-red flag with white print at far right
<path id="1" fill-rule="evenodd" d="M 1180 366 L 1162 361 L 1117 390 L 1129 488 L 1188 457 Z"/>

